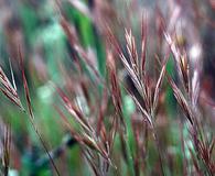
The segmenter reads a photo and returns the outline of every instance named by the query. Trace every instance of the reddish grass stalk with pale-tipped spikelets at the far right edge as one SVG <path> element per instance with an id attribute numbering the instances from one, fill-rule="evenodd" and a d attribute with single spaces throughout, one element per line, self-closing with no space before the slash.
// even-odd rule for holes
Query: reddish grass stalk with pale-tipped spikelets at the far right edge
<path id="1" fill-rule="evenodd" d="M 197 99 L 200 94 L 200 76 L 197 70 L 194 70 L 193 79 L 191 82 L 191 73 L 189 70 L 189 59 L 186 56 L 186 53 L 181 54 L 180 50 L 176 47 L 176 45 L 172 42 L 172 38 L 169 34 L 164 33 L 165 40 L 168 44 L 170 45 L 171 52 L 174 56 L 174 59 L 176 61 L 176 66 L 179 70 L 180 80 L 184 87 L 184 91 L 187 96 L 184 96 L 182 90 L 175 85 L 173 79 L 168 76 L 168 80 L 170 82 L 170 86 L 173 89 L 174 97 L 182 108 L 182 111 L 186 116 L 187 120 L 191 122 L 191 127 L 189 129 L 191 130 L 191 136 L 193 140 L 193 145 L 195 147 L 195 152 L 197 157 L 194 156 L 193 151 L 190 148 L 190 153 L 192 155 L 192 161 L 195 166 L 196 173 L 198 175 L 202 174 L 202 168 L 200 165 L 200 161 L 204 163 L 204 165 L 207 168 L 207 173 L 209 175 L 213 175 L 214 173 L 214 162 L 212 161 L 212 150 L 214 146 L 214 139 L 212 142 L 206 142 L 208 140 L 207 135 L 203 131 L 203 125 L 200 123 L 200 114 L 197 110 Z M 200 72 L 200 70 L 198 70 Z"/>

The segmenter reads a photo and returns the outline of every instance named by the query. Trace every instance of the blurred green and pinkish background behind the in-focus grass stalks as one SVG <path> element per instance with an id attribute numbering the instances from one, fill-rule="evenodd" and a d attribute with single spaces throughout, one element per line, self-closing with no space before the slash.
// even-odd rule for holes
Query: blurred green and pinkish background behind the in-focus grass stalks
<path id="1" fill-rule="evenodd" d="M 110 125 L 109 119 L 114 116 L 111 96 L 104 97 L 105 87 L 110 87 L 106 68 L 106 51 L 110 47 L 107 44 L 107 29 L 111 29 L 122 50 L 127 47 L 125 29 L 132 29 L 138 52 L 140 52 L 143 14 L 147 14 L 147 69 L 149 75 L 158 77 L 159 64 L 155 56 L 162 59 L 169 48 L 162 34 L 163 28 L 171 35 L 176 33 L 175 43 L 179 47 L 185 48 L 191 72 L 196 70 L 198 74 L 201 122 L 205 123 L 206 135 L 213 139 L 215 128 L 214 0 L 0 0 L 0 66 L 11 82 L 12 68 L 18 95 L 23 107 L 26 108 L 22 74 L 19 67 L 19 48 L 21 50 L 35 124 L 49 151 L 54 151 L 53 155 L 56 155 L 54 162 L 61 175 L 94 174 L 84 157 L 83 148 L 73 141 L 69 129 L 62 122 L 58 109 L 67 117 L 74 129 L 82 133 L 79 125 L 72 120 L 63 107 L 55 87 L 64 89 L 69 99 L 93 119 L 89 121 L 94 122 L 94 119 L 98 119 L 99 109 L 104 103 L 108 107 L 104 114 L 107 121 L 105 123 L 107 127 Z M 66 33 L 65 21 L 62 18 L 66 19 L 66 24 L 69 24 L 69 30 L 74 33 L 73 38 L 69 38 Z M 103 85 L 97 81 L 97 77 L 92 74 L 86 62 L 80 59 L 80 64 L 77 64 L 79 58 L 71 45 L 72 41 L 78 41 L 84 55 L 89 58 L 88 63 L 93 65 L 99 78 L 107 84 Z M 83 57 L 82 53 L 79 55 Z M 114 57 L 119 80 L 138 97 L 137 89 L 117 54 Z M 173 59 L 170 59 L 166 69 L 178 82 Z M 142 127 L 142 134 L 146 134 L 146 124 L 139 121 L 140 114 L 125 90 L 122 91 L 122 105 L 127 131 L 131 133 L 128 134 L 130 155 L 135 157 L 137 155 L 136 140 L 132 134 L 138 125 L 140 129 Z M 186 174 L 193 174 L 194 164 L 192 164 L 189 150 L 192 142 L 186 121 L 182 117 L 170 86 L 164 84 L 159 99 L 157 131 L 161 150 L 166 157 L 164 161 L 166 175 L 185 175 L 184 157 L 189 163 Z M 1 141 L 3 141 L 4 129 L 8 125 L 12 136 L 9 175 L 55 175 L 29 116 L 20 111 L 3 94 L 0 94 Z M 152 139 L 150 134 L 148 138 Z M 185 148 L 182 147 L 181 138 L 184 138 L 184 143 L 187 145 L 184 146 Z M 144 136 L 142 139 L 143 147 L 147 140 Z M 142 162 L 139 175 L 160 175 L 159 156 L 153 140 L 149 140 L 147 145 L 148 154 L 143 150 L 143 153 L 136 156 L 142 156 L 143 161 L 147 161 Z M 3 142 L 0 143 L 0 147 L 3 148 Z M 182 152 L 183 150 L 185 152 Z M 117 169 L 110 166 L 107 175 L 131 175 L 131 168 L 125 160 L 123 144 L 118 135 L 112 151 L 112 162 Z M 2 156 L 3 150 L 0 152 L 0 157 Z"/>

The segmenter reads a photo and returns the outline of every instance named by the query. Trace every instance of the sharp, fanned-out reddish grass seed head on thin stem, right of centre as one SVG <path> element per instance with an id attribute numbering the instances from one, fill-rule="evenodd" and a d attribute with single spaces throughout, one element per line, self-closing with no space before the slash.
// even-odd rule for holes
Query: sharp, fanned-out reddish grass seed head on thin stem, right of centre
<path id="1" fill-rule="evenodd" d="M 132 35 L 131 30 L 128 32 L 126 30 L 125 37 L 127 42 L 127 52 L 129 54 L 128 58 L 125 56 L 122 50 L 120 48 L 117 38 L 114 36 L 111 31 L 109 30 L 108 36 L 110 43 L 112 43 L 114 48 L 118 53 L 128 75 L 130 76 L 131 80 L 133 81 L 137 90 L 141 95 L 141 98 L 144 102 L 144 107 L 140 105 L 138 101 L 137 97 L 132 94 L 129 92 L 131 98 L 133 99 L 133 102 L 136 103 L 137 108 L 140 110 L 142 113 L 143 118 L 149 122 L 151 129 L 153 129 L 153 136 L 157 142 L 157 147 L 159 150 L 159 158 L 160 158 L 160 164 L 161 164 L 161 169 L 163 172 L 163 166 L 162 166 L 162 156 L 161 156 L 161 151 L 159 148 L 159 142 L 158 142 L 158 136 L 155 134 L 155 109 L 158 106 L 158 99 L 160 95 L 160 89 L 165 76 L 165 67 L 168 63 L 169 56 L 163 61 L 162 68 L 159 75 L 159 78 L 155 84 L 155 88 L 152 87 L 152 85 L 149 82 L 149 78 L 147 77 L 146 73 L 146 41 L 147 41 L 147 34 L 146 34 L 146 23 L 142 24 L 142 41 L 141 41 L 141 61 L 138 57 L 137 54 L 137 46 L 136 46 L 136 41 Z M 140 64 L 141 63 L 141 64 Z M 164 172 L 163 172 L 164 175 Z"/>

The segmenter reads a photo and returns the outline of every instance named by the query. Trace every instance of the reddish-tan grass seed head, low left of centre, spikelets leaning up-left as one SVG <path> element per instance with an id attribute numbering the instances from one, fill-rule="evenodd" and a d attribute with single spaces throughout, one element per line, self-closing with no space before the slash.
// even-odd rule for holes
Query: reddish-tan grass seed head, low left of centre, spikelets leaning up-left
<path id="1" fill-rule="evenodd" d="M 75 121 L 79 123 L 83 129 L 79 132 L 76 132 L 76 130 L 73 129 L 63 112 L 61 110 L 57 110 L 64 123 L 71 131 L 72 136 L 77 141 L 77 143 L 84 151 L 88 150 L 88 153 L 90 153 L 90 155 L 96 155 L 98 157 L 101 156 L 100 160 L 106 163 L 106 165 L 111 165 L 110 147 L 114 143 L 115 132 L 107 134 L 107 131 L 103 123 L 104 117 L 100 117 L 100 120 L 97 124 L 98 131 L 96 132 L 94 130 L 94 127 L 87 121 L 88 118 L 86 118 L 86 114 L 84 114 L 73 102 L 69 101 L 68 97 L 63 92 L 63 90 L 57 88 L 57 92 L 62 98 L 67 111 L 73 116 Z M 103 109 L 101 111 L 105 110 Z M 100 112 L 100 116 L 104 116 L 103 112 Z M 112 128 L 116 128 L 116 125 L 112 125 Z M 87 158 L 89 156 L 87 156 Z M 93 158 L 90 158 L 89 163 L 94 170 L 94 165 L 92 162 L 94 163 L 96 161 L 93 161 Z"/>

